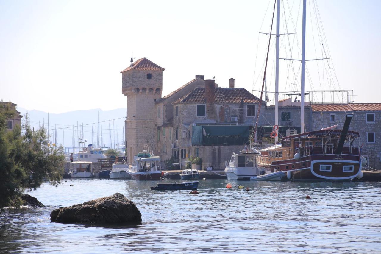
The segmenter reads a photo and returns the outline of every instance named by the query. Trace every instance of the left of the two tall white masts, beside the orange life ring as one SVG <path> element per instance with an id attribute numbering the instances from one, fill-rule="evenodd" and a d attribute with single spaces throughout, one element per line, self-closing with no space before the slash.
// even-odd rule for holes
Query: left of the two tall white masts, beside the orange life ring
<path id="1" fill-rule="evenodd" d="M 280 0 L 277 0 L 277 34 L 276 34 L 276 50 L 275 50 L 275 125 L 279 124 L 279 26 L 280 26 Z M 278 143 L 278 130 L 274 143 Z"/>

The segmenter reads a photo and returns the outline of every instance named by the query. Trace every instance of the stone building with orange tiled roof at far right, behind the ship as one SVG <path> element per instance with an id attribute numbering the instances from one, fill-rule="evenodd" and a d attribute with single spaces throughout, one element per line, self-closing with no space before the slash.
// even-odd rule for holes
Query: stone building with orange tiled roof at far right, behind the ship
<path id="1" fill-rule="evenodd" d="M 343 127 L 346 114 L 353 114 L 350 130 L 359 132 L 357 144 L 368 166 L 381 168 L 381 103 L 311 104 L 312 129 L 338 124 Z"/>

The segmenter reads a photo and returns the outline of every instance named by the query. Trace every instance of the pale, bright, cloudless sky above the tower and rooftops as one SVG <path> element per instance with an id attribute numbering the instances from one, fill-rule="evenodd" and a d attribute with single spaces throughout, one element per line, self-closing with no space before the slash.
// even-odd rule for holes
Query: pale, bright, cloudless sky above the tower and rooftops
<path id="1" fill-rule="evenodd" d="M 166 69 L 163 96 L 197 74 L 215 77 L 220 87 L 233 77 L 235 87 L 260 90 L 269 35 L 259 32 L 270 31 L 273 6 L 273 0 L 0 0 L 0 100 L 50 113 L 125 108 L 120 71 L 131 56 Z M 281 36 L 280 57 L 300 59 L 301 1 L 283 0 L 281 9 L 280 33 L 296 34 Z M 307 0 L 306 59 L 329 57 L 307 62 L 307 91 L 348 89 L 355 102 L 381 102 L 372 92 L 380 84 L 380 10 L 376 0 Z M 280 92 L 300 90 L 300 63 L 292 62 L 280 60 Z"/>

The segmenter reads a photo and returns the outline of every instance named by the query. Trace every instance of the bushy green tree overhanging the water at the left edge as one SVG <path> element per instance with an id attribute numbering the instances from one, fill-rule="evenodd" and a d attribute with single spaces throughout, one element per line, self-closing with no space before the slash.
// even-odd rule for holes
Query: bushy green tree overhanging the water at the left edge
<path id="1" fill-rule="evenodd" d="M 21 128 L 6 131 L 7 119 L 14 115 L 5 104 L 0 104 L 0 208 L 18 206 L 26 190 L 35 190 L 44 180 L 57 186 L 63 171 L 63 147 L 48 146 L 43 127 L 32 130 L 27 116 Z"/>

